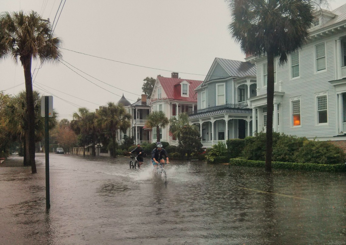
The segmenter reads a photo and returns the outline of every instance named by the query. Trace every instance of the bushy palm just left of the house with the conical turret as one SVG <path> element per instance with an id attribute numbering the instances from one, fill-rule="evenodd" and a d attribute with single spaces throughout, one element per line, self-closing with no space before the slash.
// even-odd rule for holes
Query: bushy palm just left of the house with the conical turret
<path id="1" fill-rule="evenodd" d="M 127 113 L 124 106 L 108 102 L 98 111 L 98 124 L 112 138 L 112 156 L 116 157 L 116 137 L 118 129 L 124 131 L 131 126 L 131 114 Z"/>

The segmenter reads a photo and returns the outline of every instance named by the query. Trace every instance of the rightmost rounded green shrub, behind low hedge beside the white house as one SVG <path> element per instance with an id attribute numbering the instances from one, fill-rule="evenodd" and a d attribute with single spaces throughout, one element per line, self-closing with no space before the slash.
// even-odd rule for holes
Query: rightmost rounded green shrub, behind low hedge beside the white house
<path id="1" fill-rule="evenodd" d="M 339 164 L 345 163 L 343 150 L 329 141 L 304 140 L 294 155 L 297 163 Z"/>

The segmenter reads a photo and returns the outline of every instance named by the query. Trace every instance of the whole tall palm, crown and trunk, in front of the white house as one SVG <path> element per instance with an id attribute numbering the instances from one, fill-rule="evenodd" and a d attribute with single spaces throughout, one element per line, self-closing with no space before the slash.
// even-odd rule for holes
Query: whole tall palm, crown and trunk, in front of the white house
<path id="1" fill-rule="evenodd" d="M 274 58 L 287 56 L 309 36 L 313 5 L 306 0 L 232 0 L 229 30 L 246 54 L 267 56 L 267 126 L 265 170 L 271 172 L 273 145 Z"/>

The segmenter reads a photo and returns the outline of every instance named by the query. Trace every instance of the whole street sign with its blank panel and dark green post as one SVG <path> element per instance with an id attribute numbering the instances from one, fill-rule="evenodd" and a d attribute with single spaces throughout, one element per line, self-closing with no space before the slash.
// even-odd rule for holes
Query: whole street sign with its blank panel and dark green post
<path id="1" fill-rule="evenodd" d="M 42 96 L 41 116 L 45 118 L 46 209 L 49 209 L 51 208 L 49 195 L 49 117 L 53 116 L 53 96 Z"/>

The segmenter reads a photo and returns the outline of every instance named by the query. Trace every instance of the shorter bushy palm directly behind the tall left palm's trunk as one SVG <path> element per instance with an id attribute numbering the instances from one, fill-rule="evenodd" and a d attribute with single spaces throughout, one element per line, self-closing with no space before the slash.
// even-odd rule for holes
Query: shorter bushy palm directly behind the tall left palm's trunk
<path id="1" fill-rule="evenodd" d="M 45 133 L 45 119 L 41 116 L 41 96 L 37 91 L 33 91 L 34 98 L 34 139 L 33 144 L 43 139 Z M 11 133 L 18 140 L 24 141 L 24 166 L 29 166 L 29 132 L 28 114 L 26 103 L 26 92 L 21 91 L 12 97 L 4 108 L 4 122 Z M 57 126 L 58 113 L 53 109 L 53 116 L 48 119 L 48 129 L 52 130 Z"/>

